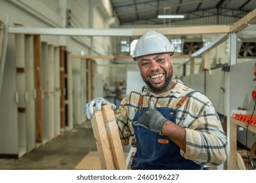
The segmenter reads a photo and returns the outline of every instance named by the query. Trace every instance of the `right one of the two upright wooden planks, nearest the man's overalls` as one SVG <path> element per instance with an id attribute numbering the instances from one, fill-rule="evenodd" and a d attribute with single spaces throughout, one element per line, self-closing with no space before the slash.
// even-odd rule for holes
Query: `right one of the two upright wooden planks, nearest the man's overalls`
<path id="1" fill-rule="evenodd" d="M 116 124 L 116 116 L 112 110 L 112 105 L 103 105 L 102 114 L 108 131 L 108 137 L 110 140 L 111 151 L 115 161 L 116 169 L 127 170 L 125 155 L 123 153 L 119 130 Z"/>

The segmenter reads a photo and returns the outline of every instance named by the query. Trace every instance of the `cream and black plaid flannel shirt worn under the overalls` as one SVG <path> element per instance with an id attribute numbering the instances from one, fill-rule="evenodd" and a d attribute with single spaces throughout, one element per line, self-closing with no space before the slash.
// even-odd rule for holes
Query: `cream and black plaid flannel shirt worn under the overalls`
<path id="1" fill-rule="evenodd" d="M 175 87 L 169 92 L 154 94 L 146 86 L 128 93 L 117 110 L 117 125 L 121 142 L 136 147 L 133 118 L 139 109 L 139 97 L 143 95 L 143 107 L 153 101 L 156 107 L 175 108 L 186 93 L 193 91 L 181 80 L 173 80 Z M 193 93 L 178 108 L 176 124 L 186 129 L 186 152 L 181 156 L 200 165 L 220 165 L 226 161 L 228 143 L 219 116 L 209 99 L 200 92 Z M 130 141 L 131 140 L 131 141 Z"/>

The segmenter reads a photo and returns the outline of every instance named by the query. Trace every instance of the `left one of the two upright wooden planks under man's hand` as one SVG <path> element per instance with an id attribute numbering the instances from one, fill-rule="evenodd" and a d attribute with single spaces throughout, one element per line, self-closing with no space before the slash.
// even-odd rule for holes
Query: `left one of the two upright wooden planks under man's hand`
<path id="1" fill-rule="evenodd" d="M 93 127 L 93 134 L 95 135 L 101 168 L 103 170 L 114 170 L 114 159 L 112 157 L 110 142 L 108 141 L 108 132 L 106 131 L 102 111 L 98 111 L 96 107 L 93 109 L 95 114 L 92 116 L 91 124 Z"/>

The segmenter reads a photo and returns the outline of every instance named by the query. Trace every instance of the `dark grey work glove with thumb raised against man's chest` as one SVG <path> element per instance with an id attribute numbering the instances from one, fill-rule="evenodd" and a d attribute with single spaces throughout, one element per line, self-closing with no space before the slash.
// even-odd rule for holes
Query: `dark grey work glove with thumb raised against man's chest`
<path id="1" fill-rule="evenodd" d="M 163 124 L 165 124 L 166 121 L 168 120 L 161 115 L 161 113 L 154 107 L 153 102 L 150 101 L 149 108 L 144 110 L 139 120 L 134 122 L 134 125 L 141 125 L 151 131 L 161 133 Z"/>

